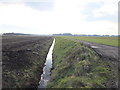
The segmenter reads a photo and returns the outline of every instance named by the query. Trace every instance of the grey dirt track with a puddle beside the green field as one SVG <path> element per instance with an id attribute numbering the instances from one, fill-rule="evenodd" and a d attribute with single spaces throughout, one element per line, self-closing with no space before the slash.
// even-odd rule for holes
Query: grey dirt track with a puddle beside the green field
<path id="1" fill-rule="evenodd" d="M 80 41 L 83 45 L 94 49 L 102 58 L 109 60 L 118 60 L 118 47 L 97 44 L 92 42 Z"/>

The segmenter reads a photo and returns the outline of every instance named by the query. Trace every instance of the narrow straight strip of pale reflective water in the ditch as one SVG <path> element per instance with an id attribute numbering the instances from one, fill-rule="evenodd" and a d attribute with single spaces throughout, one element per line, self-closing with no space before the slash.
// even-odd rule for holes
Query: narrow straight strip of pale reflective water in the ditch
<path id="1" fill-rule="evenodd" d="M 39 82 L 38 88 L 46 88 L 48 81 L 50 80 L 51 68 L 52 68 L 52 52 L 55 44 L 55 39 L 49 49 L 47 54 L 45 66 L 43 68 L 43 74 L 41 75 L 41 80 Z"/>

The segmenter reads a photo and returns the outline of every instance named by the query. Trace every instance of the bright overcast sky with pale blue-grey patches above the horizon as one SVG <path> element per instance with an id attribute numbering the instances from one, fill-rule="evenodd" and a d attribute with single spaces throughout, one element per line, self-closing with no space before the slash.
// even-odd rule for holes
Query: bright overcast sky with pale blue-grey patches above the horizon
<path id="1" fill-rule="evenodd" d="M 119 0 L 0 0 L 0 33 L 118 34 Z"/>

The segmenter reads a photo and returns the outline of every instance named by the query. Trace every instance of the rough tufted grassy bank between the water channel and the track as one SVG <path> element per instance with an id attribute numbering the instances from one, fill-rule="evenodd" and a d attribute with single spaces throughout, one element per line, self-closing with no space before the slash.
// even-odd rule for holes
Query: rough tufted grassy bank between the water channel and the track
<path id="1" fill-rule="evenodd" d="M 117 70 L 90 48 L 65 37 L 56 37 L 49 88 L 116 87 Z"/>

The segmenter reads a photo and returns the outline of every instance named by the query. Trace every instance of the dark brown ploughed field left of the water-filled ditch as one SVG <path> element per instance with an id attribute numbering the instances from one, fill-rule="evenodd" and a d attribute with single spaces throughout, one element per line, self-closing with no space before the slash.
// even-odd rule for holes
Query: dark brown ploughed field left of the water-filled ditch
<path id="1" fill-rule="evenodd" d="M 2 36 L 2 87 L 36 88 L 52 41 L 49 36 Z"/>

